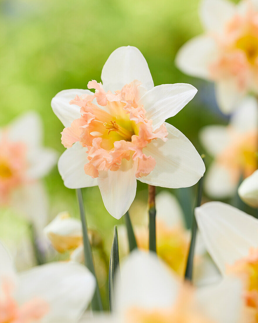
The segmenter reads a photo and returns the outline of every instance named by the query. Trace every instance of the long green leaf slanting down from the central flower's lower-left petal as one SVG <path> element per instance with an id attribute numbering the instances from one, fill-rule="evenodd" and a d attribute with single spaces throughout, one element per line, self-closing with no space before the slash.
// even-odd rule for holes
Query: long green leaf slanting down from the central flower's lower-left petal
<path id="1" fill-rule="evenodd" d="M 84 202 L 83 202 L 82 190 L 76 189 L 76 194 L 77 194 L 80 215 L 81 215 L 81 221 L 82 221 L 82 229 L 83 229 L 84 262 L 85 262 L 85 266 L 88 267 L 88 269 L 92 272 L 92 274 L 96 278 L 96 290 L 95 290 L 94 296 L 91 301 L 91 307 L 92 307 L 93 311 L 103 311 L 100 290 L 99 290 L 97 277 L 96 277 L 96 273 L 95 273 L 95 268 L 94 268 L 94 264 L 93 264 L 91 245 L 90 245 L 88 232 L 87 232 L 87 224 L 86 224 L 86 218 L 85 218 L 85 212 L 84 212 Z"/>

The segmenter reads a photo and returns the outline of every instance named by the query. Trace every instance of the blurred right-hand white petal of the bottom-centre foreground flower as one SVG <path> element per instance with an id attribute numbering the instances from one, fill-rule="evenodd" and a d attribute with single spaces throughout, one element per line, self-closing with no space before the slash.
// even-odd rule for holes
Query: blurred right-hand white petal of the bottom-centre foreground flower
<path id="1" fill-rule="evenodd" d="M 197 290 L 196 297 L 206 314 L 217 323 L 240 322 L 242 309 L 241 282 L 224 278 L 219 284 Z"/>

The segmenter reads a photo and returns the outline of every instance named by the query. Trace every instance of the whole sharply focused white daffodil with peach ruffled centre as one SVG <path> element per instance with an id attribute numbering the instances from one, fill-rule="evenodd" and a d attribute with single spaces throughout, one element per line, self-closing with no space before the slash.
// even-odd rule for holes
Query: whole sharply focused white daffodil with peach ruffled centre
<path id="1" fill-rule="evenodd" d="M 134 200 L 136 179 L 170 188 L 198 182 L 205 171 L 200 155 L 164 122 L 197 90 L 183 83 L 154 87 L 145 58 L 130 46 L 110 55 L 101 78 L 103 86 L 88 83 L 95 93 L 64 90 L 52 99 L 66 127 L 62 143 L 68 149 L 58 161 L 64 185 L 98 185 L 107 211 L 119 219 Z"/>

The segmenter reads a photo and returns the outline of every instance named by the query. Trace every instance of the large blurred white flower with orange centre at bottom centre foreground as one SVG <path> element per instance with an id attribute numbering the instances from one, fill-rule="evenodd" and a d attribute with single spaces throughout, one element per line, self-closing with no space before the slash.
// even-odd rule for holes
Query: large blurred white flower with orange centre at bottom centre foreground
<path id="1" fill-rule="evenodd" d="M 237 323 L 241 283 L 233 278 L 210 287 L 183 285 L 156 255 L 134 251 L 121 270 L 112 317 L 94 323 Z"/>

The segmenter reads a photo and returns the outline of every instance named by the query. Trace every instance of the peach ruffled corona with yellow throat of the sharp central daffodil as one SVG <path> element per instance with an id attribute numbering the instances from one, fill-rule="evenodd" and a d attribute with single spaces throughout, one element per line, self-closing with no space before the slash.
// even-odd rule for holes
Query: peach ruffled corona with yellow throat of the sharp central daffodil
<path id="1" fill-rule="evenodd" d="M 70 102 L 81 108 L 81 117 L 64 129 L 62 143 L 69 148 L 79 141 L 87 147 L 89 163 L 84 171 L 92 178 L 101 171 L 118 170 L 123 159 L 136 163 L 136 178 L 154 169 L 155 159 L 146 156 L 143 148 L 157 138 L 166 141 L 168 132 L 164 124 L 153 130 L 152 120 L 146 119 L 146 111 L 138 103 L 140 84 L 134 80 L 113 94 L 104 92 L 101 83 L 91 81 L 88 88 L 94 88 L 95 94 L 76 96 Z"/>

